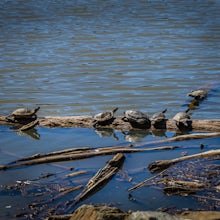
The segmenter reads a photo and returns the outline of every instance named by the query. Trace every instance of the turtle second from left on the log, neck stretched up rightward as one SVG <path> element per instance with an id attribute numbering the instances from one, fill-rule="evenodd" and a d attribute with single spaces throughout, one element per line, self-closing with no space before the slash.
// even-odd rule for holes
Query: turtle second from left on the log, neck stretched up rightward
<path id="1" fill-rule="evenodd" d="M 114 114 L 117 110 L 118 108 L 114 108 L 112 111 L 100 112 L 94 115 L 93 127 L 110 123 L 113 120 Z"/>

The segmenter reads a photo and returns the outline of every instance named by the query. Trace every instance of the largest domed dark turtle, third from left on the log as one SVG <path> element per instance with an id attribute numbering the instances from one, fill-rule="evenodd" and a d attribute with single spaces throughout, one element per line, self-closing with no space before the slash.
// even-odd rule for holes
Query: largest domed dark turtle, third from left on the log
<path id="1" fill-rule="evenodd" d="M 149 117 L 137 110 L 127 110 L 124 112 L 124 117 L 122 120 L 129 121 L 133 126 L 147 126 L 150 127 L 151 122 Z"/>

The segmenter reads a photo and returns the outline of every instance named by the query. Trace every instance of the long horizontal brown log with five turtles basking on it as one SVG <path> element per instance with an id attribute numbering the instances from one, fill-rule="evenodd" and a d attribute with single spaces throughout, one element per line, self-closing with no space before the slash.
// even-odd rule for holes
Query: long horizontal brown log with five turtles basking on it
<path id="1" fill-rule="evenodd" d="M 99 128 L 111 128 L 119 131 L 128 131 L 133 129 L 129 122 L 122 120 L 122 116 L 116 117 L 112 123 L 99 126 Z M 94 128 L 94 118 L 91 115 L 85 116 L 46 116 L 40 117 L 39 126 L 41 127 L 87 127 Z M 6 116 L 0 116 L 0 125 L 10 125 L 12 123 L 6 120 Z M 13 124 L 14 125 L 14 124 Z M 151 126 L 152 130 L 155 130 Z M 167 129 L 171 131 L 179 131 L 176 123 L 172 119 L 165 121 L 165 124 L 157 126 L 157 129 Z M 191 129 L 195 131 L 220 131 L 220 119 L 210 120 L 192 120 Z"/>

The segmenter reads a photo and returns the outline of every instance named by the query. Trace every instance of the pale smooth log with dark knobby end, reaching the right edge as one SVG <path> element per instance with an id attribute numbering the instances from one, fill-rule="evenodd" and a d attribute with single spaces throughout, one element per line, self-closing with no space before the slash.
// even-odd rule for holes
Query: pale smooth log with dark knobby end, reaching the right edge
<path id="1" fill-rule="evenodd" d="M 172 160 L 158 160 L 155 162 L 152 162 L 148 165 L 148 169 L 151 173 L 161 172 L 170 166 L 185 161 L 185 160 L 191 160 L 196 158 L 204 158 L 204 157 L 211 157 L 211 156 L 217 156 L 220 155 L 220 150 L 209 150 L 203 153 L 193 154 L 189 156 L 179 157 Z"/>

